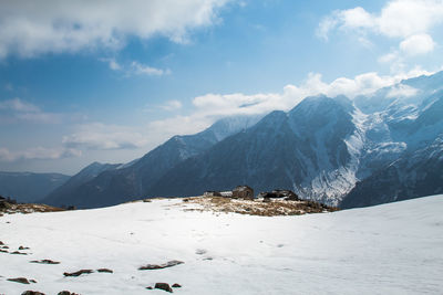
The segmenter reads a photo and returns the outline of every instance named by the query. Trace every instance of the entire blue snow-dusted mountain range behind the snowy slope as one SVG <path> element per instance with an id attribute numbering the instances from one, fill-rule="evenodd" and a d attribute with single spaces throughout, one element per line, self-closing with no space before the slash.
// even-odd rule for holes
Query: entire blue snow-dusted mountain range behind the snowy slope
<path id="1" fill-rule="evenodd" d="M 443 72 L 371 95 L 227 117 L 125 165 L 94 162 L 43 202 L 79 208 L 248 185 L 343 208 L 443 192 Z"/>

